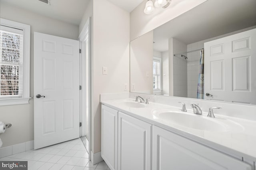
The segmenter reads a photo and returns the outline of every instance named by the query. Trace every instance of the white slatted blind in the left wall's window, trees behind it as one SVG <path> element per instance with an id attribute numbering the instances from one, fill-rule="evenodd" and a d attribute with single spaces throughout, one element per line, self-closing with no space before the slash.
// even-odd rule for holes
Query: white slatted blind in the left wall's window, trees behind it
<path id="1" fill-rule="evenodd" d="M 22 97 L 23 31 L 0 28 L 0 98 Z"/>

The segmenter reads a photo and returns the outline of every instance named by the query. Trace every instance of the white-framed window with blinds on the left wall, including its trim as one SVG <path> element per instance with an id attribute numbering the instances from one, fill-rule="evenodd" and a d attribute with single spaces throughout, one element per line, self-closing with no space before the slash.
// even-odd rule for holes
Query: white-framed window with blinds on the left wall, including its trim
<path id="1" fill-rule="evenodd" d="M 30 26 L 0 20 L 0 105 L 28 103 Z"/>

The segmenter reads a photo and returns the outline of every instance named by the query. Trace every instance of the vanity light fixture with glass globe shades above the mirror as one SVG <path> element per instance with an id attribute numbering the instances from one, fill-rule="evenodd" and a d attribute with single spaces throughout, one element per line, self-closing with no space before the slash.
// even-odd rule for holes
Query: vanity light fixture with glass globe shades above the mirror
<path id="1" fill-rule="evenodd" d="M 171 3 L 171 0 L 156 0 L 154 5 L 152 0 L 148 0 L 144 9 L 145 14 L 152 14 L 154 7 L 156 8 L 167 8 Z"/>

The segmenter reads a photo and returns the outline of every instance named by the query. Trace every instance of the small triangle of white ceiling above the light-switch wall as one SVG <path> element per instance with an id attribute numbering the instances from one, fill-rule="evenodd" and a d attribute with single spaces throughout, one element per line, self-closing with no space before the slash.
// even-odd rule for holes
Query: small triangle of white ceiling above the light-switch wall
<path id="1" fill-rule="evenodd" d="M 108 0 L 108 1 L 126 10 L 127 12 L 132 12 L 132 10 L 134 10 L 134 8 L 136 8 L 144 0 Z"/>

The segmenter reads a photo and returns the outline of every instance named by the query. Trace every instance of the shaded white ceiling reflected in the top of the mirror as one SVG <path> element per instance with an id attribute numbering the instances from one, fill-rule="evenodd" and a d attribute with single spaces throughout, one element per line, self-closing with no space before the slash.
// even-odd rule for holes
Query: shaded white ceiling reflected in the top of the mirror
<path id="1" fill-rule="evenodd" d="M 168 39 L 199 42 L 256 25 L 256 0 L 208 0 L 154 29 L 154 49 L 168 51 Z"/>

